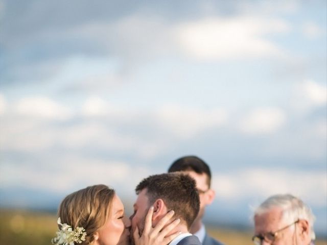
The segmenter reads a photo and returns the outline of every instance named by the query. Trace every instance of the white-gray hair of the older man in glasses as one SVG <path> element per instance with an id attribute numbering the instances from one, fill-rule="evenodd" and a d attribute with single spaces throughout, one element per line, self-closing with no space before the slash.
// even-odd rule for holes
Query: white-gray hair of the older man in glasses
<path id="1" fill-rule="evenodd" d="M 255 209 L 254 216 L 266 213 L 272 208 L 281 208 L 283 210 L 282 220 L 286 220 L 290 223 L 295 222 L 297 219 L 307 220 L 311 230 L 311 239 L 314 240 L 316 238 L 316 234 L 313 230 L 315 216 L 313 215 L 311 208 L 303 203 L 299 198 L 296 198 L 291 194 L 272 195 Z"/>

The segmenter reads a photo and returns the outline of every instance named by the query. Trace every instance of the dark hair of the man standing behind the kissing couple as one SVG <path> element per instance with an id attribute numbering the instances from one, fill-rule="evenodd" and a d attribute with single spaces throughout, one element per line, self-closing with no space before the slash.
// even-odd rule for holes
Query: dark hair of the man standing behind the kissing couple
<path id="1" fill-rule="evenodd" d="M 205 174 L 207 176 L 207 185 L 211 186 L 211 171 L 209 166 L 197 156 L 184 156 L 175 160 L 169 167 L 168 172 L 192 170 L 197 174 Z"/>

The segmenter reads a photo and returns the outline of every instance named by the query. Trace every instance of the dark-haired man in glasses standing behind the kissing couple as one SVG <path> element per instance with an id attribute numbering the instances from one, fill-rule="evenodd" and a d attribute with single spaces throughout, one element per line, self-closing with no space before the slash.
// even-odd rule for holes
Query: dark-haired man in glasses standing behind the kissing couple
<path id="1" fill-rule="evenodd" d="M 190 233 L 197 236 L 202 245 L 223 245 L 221 242 L 208 236 L 202 223 L 205 207 L 210 205 L 215 198 L 215 191 L 210 188 L 211 171 L 209 166 L 196 156 L 185 156 L 174 161 L 168 171 L 183 171 L 183 173 L 195 179 L 196 188 L 200 197 L 200 211 L 190 228 Z"/>

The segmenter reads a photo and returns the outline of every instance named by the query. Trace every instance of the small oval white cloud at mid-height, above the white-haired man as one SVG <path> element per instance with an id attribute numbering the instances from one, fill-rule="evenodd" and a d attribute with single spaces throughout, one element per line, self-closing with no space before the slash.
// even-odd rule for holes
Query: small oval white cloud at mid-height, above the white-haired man
<path id="1" fill-rule="evenodd" d="M 246 134 L 266 134 L 280 129 L 285 121 L 286 115 L 280 108 L 257 108 L 241 120 L 239 127 Z"/>

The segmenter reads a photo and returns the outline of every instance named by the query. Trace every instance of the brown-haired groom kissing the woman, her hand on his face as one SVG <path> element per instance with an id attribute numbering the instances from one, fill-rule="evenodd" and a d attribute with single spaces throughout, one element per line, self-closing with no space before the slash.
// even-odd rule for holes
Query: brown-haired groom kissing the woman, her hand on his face
<path id="1" fill-rule="evenodd" d="M 153 226 L 167 212 L 174 210 L 174 218 L 180 218 L 180 223 L 170 234 L 177 231 L 181 231 L 181 234 L 170 245 L 201 245 L 199 239 L 189 232 L 200 207 L 196 183 L 191 177 L 180 173 L 152 175 L 142 180 L 135 191 L 137 199 L 130 217 L 133 231 L 137 226 L 143 233 L 145 216 L 151 206 L 154 207 Z"/>

